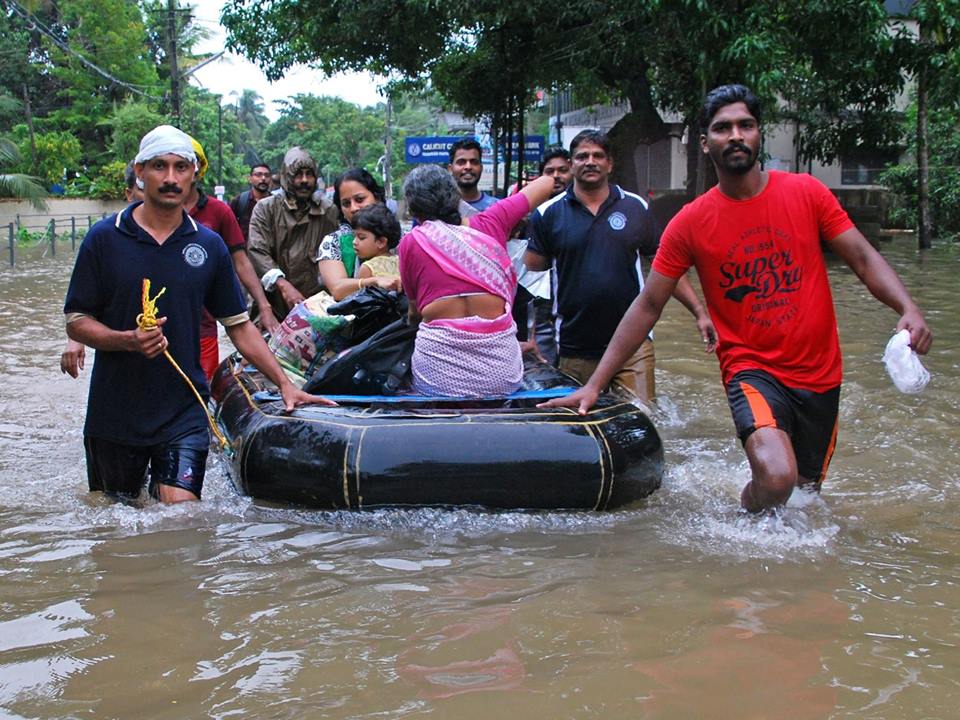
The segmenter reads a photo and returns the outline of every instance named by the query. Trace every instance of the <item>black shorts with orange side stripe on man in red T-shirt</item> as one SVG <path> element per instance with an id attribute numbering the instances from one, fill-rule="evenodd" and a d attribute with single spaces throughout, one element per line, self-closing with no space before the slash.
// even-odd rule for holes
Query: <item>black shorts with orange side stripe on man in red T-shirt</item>
<path id="1" fill-rule="evenodd" d="M 823 482 L 837 443 L 840 386 L 816 393 L 786 387 L 763 370 L 744 370 L 727 383 L 727 402 L 740 442 L 774 427 L 790 436 L 800 477 Z"/>

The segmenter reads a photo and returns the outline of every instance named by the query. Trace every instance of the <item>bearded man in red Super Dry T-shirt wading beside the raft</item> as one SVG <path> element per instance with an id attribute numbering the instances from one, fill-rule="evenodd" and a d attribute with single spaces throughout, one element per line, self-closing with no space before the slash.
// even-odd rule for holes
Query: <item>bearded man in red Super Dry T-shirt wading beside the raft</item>
<path id="1" fill-rule="evenodd" d="M 660 239 L 643 292 L 630 306 L 583 388 L 544 406 L 581 414 L 647 337 L 677 281 L 696 267 L 717 329 L 717 354 L 752 478 L 751 512 L 818 490 L 833 454 L 840 397 L 837 322 L 820 243 L 839 255 L 885 305 L 897 330 L 926 353 L 933 342 L 900 278 L 854 227 L 836 198 L 808 175 L 764 171 L 760 106 L 743 85 L 706 97 L 700 147 L 719 184 L 686 205 Z"/>

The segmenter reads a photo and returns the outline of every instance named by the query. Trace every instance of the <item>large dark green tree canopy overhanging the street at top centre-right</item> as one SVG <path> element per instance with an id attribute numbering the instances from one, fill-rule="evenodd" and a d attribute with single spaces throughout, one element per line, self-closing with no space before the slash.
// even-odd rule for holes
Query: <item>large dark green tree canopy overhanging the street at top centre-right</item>
<path id="1" fill-rule="evenodd" d="M 535 87 L 557 83 L 581 97 L 628 99 L 633 142 L 663 137 L 663 110 L 680 113 L 695 137 L 704 92 L 736 80 L 770 105 L 786 102 L 802 123 L 803 157 L 831 159 L 891 139 L 881 111 L 901 78 L 875 0 L 358 0 L 340 9 L 233 0 L 223 21 L 231 46 L 273 77 L 296 62 L 408 78 L 436 72 L 458 105 L 489 117 L 518 113 Z M 471 94 L 468 79 L 453 84 L 488 63 L 500 87 L 481 80 Z"/>

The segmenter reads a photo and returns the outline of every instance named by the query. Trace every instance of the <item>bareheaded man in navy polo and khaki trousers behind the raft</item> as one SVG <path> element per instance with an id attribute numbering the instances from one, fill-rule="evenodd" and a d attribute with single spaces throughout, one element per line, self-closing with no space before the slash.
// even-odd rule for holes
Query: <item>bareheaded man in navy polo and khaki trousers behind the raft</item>
<path id="1" fill-rule="evenodd" d="M 645 200 L 610 182 L 606 135 L 584 130 L 570 143 L 573 184 L 530 215 L 524 262 L 546 270 L 556 261 L 562 371 L 586 382 L 630 303 L 643 288 L 640 258 L 652 257 L 660 228 Z M 689 280 L 674 295 L 693 314 L 713 351 L 716 332 Z M 653 341 L 647 338 L 613 381 L 649 402 L 655 393 Z"/>

